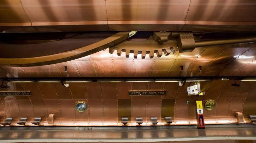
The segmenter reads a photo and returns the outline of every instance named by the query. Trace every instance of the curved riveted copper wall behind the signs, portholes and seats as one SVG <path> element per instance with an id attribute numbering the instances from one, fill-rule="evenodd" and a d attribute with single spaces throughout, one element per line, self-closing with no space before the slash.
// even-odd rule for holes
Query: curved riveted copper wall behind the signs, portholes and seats
<path id="1" fill-rule="evenodd" d="M 100 51 L 77 60 L 39 67 L 1 66 L 0 76 L 7 77 L 63 77 L 68 66 L 71 77 L 115 76 L 195 76 L 202 66 L 202 75 L 255 75 L 255 44 L 224 45 L 221 47 L 196 48 L 193 52 L 174 55 L 156 55 L 150 59 L 125 58 Z M 205 96 L 188 96 L 185 86 L 176 82 L 148 83 L 69 83 L 69 88 L 60 83 L 8 83 L 12 91 L 31 91 L 32 96 L 1 96 L 0 117 L 13 117 L 17 121 L 41 116 L 41 125 L 48 125 L 48 114 L 55 114 L 54 125 L 117 125 L 121 116 L 128 116 L 130 123 L 143 117 L 150 124 L 156 116 L 159 125 L 165 124 L 165 116 L 172 116 L 174 124 L 195 124 L 195 100 L 215 100 L 216 107 L 204 110 L 206 124 L 237 123 L 235 112 L 243 112 L 245 122 L 249 114 L 256 114 L 254 81 L 240 82 L 240 87 L 231 86 L 234 81 L 213 80 L 201 82 Z M 128 96 L 129 90 L 167 90 L 166 96 Z M 75 104 L 84 101 L 88 109 L 84 113 L 75 110 Z M 187 104 L 187 101 L 189 103 Z M 12 125 L 16 125 L 12 122 Z"/>

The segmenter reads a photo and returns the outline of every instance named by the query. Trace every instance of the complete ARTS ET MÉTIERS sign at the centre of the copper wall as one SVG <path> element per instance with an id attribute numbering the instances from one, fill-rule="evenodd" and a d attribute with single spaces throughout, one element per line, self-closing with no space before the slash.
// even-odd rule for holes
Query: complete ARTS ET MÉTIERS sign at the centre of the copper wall
<path id="1" fill-rule="evenodd" d="M 166 90 L 132 90 L 129 91 L 129 96 L 164 96 Z"/>

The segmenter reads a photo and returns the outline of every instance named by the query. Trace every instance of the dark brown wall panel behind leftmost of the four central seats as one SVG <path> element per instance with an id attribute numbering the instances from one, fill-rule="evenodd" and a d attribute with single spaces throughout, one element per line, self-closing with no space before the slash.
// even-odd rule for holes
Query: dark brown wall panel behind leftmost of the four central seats
<path id="1" fill-rule="evenodd" d="M 121 122 L 122 117 L 128 117 L 131 122 L 131 100 L 118 99 L 118 121 Z"/>

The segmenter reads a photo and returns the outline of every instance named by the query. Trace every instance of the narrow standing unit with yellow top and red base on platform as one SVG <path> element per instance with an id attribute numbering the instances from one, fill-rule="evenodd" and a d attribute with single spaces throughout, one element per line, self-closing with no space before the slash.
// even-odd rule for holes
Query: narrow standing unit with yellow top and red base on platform
<path id="1" fill-rule="evenodd" d="M 202 101 L 196 101 L 196 121 L 198 129 L 205 129 L 204 112 Z"/>

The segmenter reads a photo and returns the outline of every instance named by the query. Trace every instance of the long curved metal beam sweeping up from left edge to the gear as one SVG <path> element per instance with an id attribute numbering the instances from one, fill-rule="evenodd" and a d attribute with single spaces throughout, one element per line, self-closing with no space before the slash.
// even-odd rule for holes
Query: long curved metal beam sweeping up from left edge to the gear
<path id="1" fill-rule="evenodd" d="M 112 35 L 111 37 L 108 37 L 99 42 L 87 45 L 85 47 L 63 52 L 63 53 L 53 54 L 53 55 L 33 57 L 33 58 L 0 58 L 0 64 L 10 65 L 13 67 L 32 67 L 32 66 L 66 62 L 66 61 L 82 58 L 87 55 L 104 50 L 108 47 L 111 47 L 121 41 L 126 40 L 129 37 L 129 34 L 130 34 L 129 31 L 118 32 Z"/>

